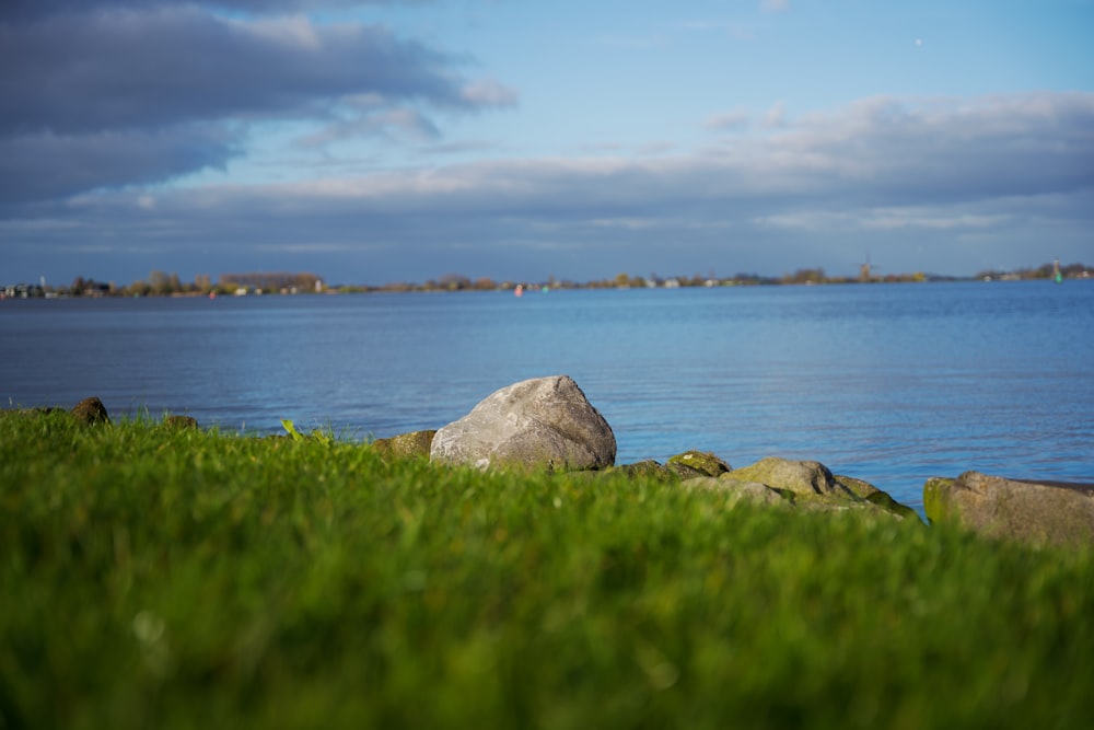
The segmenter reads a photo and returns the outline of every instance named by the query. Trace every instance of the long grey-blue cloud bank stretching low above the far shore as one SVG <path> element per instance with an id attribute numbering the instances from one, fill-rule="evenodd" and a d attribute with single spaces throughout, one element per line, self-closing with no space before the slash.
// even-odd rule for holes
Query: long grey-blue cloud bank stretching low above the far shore
<path id="1" fill-rule="evenodd" d="M 992 265 L 1012 247 L 1026 252 L 1019 264 L 1035 264 L 1047 231 L 1052 255 L 1081 259 L 1069 252 L 1089 251 L 1094 224 L 1092 128 L 1092 93 L 873 97 L 694 153 L 164 188 L 151 208 L 141 189 L 82 195 L 22 207 L 0 221 L 0 239 L 49 247 L 71 242 L 75 228 L 86 245 L 103 246 L 140 241 L 152 227 L 162 256 L 211 255 L 210 241 L 222 242 L 218 256 L 241 260 L 317 246 L 330 257 L 305 268 L 375 282 L 444 270 L 505 276 L 517 260 L 575 278 L 625 266 L 667 273 L 673 260 L 763 269 L 748 262 L 770 267 L 790 250 L 794 265 L 804 256 L 831 267 L 808 252 L 850 260 L 866 247 L 882 255 L 883 244 L 894 247 L 889 270 L 905 266 L 898 244 L 947 256 L 990 245 Z"/>

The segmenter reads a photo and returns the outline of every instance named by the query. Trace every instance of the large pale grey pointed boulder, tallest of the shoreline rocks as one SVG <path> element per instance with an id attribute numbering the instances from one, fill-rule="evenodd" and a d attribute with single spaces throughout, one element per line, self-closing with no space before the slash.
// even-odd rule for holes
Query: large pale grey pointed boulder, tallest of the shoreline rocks
<path id="1" fill-rule="evenodd" d="M 615 463 L 612 428 L 569 375 L 514 383 L 487 396 L 441 428 L 430 460 L 551 471 L 603 468 Z"/>

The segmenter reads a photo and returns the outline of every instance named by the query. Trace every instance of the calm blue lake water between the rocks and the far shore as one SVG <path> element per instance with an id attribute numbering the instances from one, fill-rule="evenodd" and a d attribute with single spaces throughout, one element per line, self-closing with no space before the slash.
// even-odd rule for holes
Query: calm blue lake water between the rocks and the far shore
<path id="1" fill-rule="evenodd" d="M 0 397 L 363 439 L 566 373 L 618 463 L 815 459 L 919 506 L 969 468 L 1094 482 L 1092 333 L 1071 281 L 8 300 Z"/>

